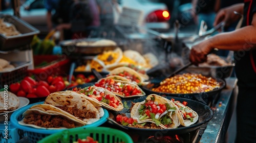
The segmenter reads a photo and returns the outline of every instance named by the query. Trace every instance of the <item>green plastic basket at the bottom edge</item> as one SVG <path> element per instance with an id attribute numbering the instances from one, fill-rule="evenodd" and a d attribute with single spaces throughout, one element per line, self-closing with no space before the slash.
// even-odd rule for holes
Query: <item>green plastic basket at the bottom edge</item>
<path id="1" fill-rule="evenodd" d="M 78 138 L 86 139 L 87 136 L 92 137 L 94 140 L 97 140 L 99 143 L 132 143 L 132 138 L 123 131 L 112 129 L 108 127 L 79 127 L 74 129 L 63 130 L 58 133 L 49 135 L 38 143 L 73 143 L 77 141 Z"/>

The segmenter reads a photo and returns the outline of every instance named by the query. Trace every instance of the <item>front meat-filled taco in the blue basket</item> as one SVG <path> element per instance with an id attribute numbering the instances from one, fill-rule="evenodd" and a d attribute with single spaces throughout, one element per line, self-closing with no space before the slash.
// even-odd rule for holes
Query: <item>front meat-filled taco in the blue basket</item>
<path id="1" fill-rule="evenodd" d="M 85 124 L 69 114 L 50 104 L 38 104 L 23 113 L 20 125 L 39 129 L 67 129 L 84 126 Z"/>

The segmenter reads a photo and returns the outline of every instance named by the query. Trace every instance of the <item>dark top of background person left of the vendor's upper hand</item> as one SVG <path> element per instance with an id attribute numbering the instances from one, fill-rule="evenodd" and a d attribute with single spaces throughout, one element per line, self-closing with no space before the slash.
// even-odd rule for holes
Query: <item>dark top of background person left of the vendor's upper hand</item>
<path id="1" fill-rule="evenodd" d="M 199 13 L 210 13 L 215 12 L 215 0 L 198 0 L 196 12 Z"/>

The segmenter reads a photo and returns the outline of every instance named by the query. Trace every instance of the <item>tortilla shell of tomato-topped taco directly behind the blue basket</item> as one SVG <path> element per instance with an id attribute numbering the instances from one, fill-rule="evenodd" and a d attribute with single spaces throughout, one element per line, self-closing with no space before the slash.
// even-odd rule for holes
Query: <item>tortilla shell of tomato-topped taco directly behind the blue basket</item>
<path id="1" fill-rule="evenodd" d="M 105 94 L 105 95 L 109 94 L 110 97 L 114 97 L 114 99 L 116 99 L 117 101 L 119 101 L 119 105 L 117 106 L 117 108 L 114 108 L 114 107 L 112 107 L 112 106 L 110 106 L 110 105 L 108 105 L 108 104 L 106 104 L 106 103 L 104 103 L 104 102 L 100 102 L 100 101 L 98 101 L 98 100 L 95 99 L 95 98 L 91 98 L 91 97 L 88 97 L 88 96 L 85 95 L 85 96 L 87 97 L 87 99 L 92 99 L 92 100 L 94 100 L 95 102 L 97 102 L 97 103 L 99 103 L 100 105 L 102 105 L 104 108 L 110 109 L 110 110 L 113 110 L 113 111 L 121 111 L 121 110 L 123 109 L 122 101 L 121 101 L 114 93 L 112 93 L 110 90 L 105 89 L 105 88 L 102 88 L 102 87 L 97 87 L 97 86 L 92 86 L 92 87 L 95 88 L 97 91 L 104 91 L 104 94 Z M 81 89 L 80 92 L 83 92 L 83 93 L 87 92 L 87 91 L 86 91 L 87 88 L 88 88 L 88 87 L 84 87 L 83 89 Z"/>

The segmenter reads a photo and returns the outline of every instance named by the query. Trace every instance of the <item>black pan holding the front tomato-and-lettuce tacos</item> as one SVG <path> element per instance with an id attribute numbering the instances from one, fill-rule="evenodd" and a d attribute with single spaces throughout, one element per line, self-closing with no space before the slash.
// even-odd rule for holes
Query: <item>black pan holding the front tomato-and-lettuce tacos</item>
<path id="1" fill-rule="evenodd" d="M 134 98 L 129 98 L 129 99 L 122 99 L 122 103 L 123 105 L 127 105 L 127 107 L 131 107 L 132 103 L 137 103 L 137 102 L 141 102 L 143 100 L 145 100 L 146 96 L 144 97 L 134 97 Z M 189 99 L 184 99 L 184 98 L 177 98 L 177 97 L 165 97 L 167 99 L 175 99 L 175 100 L 179 100 L 181 102 L 186 101 L 188 104 L 187 106 L 190 107 L 191 109 L 195 110 L 198 115 L 199 115 L 199 119 L 198 121 L 194 124 L 191 125 L 189 127 L 183 127 L 180 126 L 176 129 L 142 129 L 142 128 L 135 128 L 135 127 L 128 127 L 128 126 L 123 126 L 124 128 L 120 127 L 120 125 L 116 125 L 113 122 L 108 121 L 110 124 L 114 124 L 116 125 L 117 129 L 126 131 L 126 132 L 130 132 L 133 134 L 138 134 L 138 135 L 170 135 L 170 134 L 184 134 L 184 133 L 188 133 L 191 131 L 195 131 L 197 130 L 201 125 L 207 123 L 208 121 L 211 120 L 212 116 L 214 115 L 214 113 L 212 112 L 212 110 L 210 109 L 209 106 L 194 101 L 194 100 L 189 100 Z M 127 108 L 123 108 L 123 110 L 121 111 L 111 111 L 111 113 L 114 115 L 113 120 L 115 120 L 115 117 L 117 116 L 117 114 L 121 114 L 124 113 L 126 114 L 126 116 L 130 117 L 130 111 Z M 122 126 L 122 125 L 121 125 Z M 126 128 L 126 129 L 125 129 Z"/>

